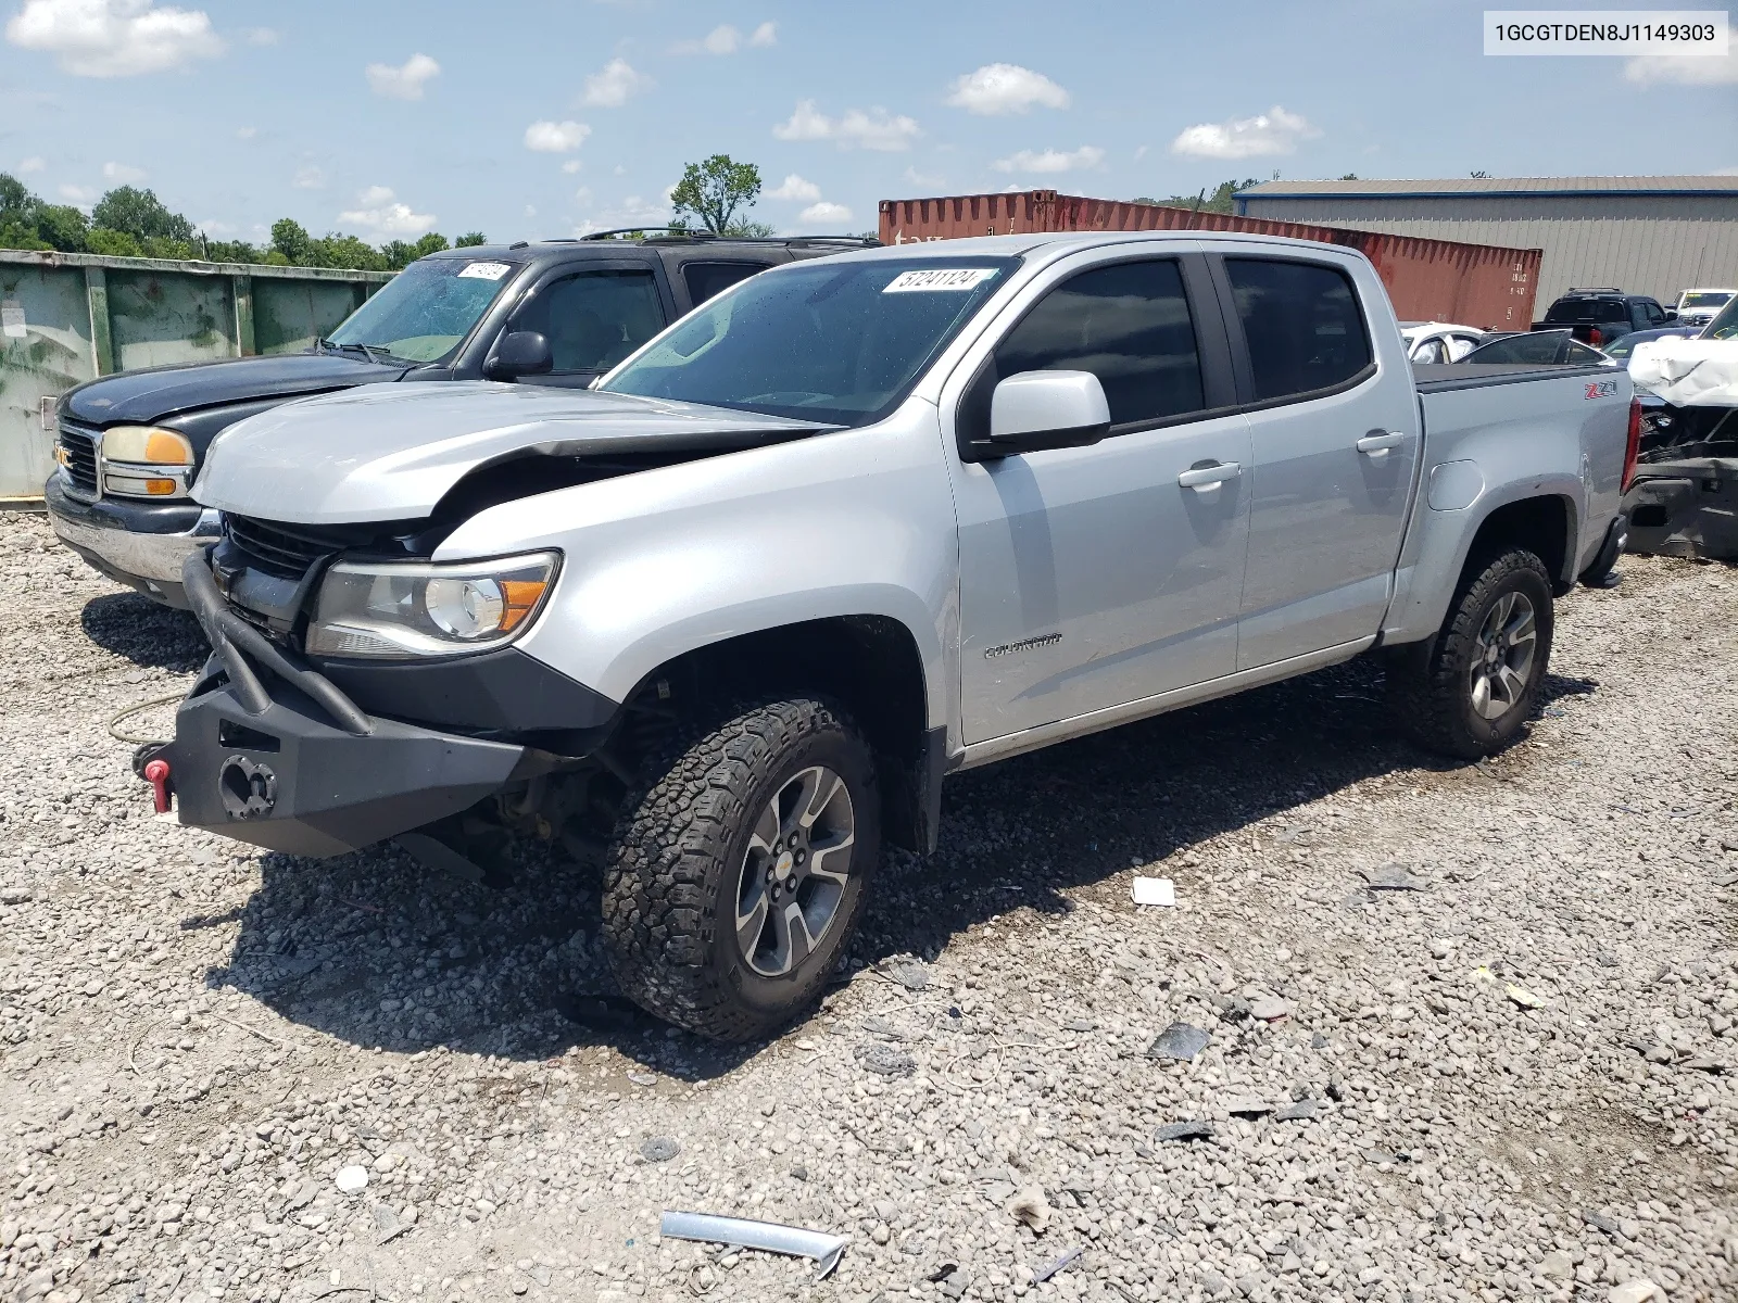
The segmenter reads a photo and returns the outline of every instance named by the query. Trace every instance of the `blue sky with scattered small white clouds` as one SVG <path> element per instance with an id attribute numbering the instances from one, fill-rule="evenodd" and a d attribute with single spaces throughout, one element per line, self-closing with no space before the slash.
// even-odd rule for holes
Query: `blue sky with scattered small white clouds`
<path id="1" fill-rule="evenodd" d="M 1738 54 L 1491 59 L 1481 12 L 0 0 L 0 170 L 78 203 L 146 184 L 250 240 L 283 215 L 368 240 L 645 224 L 711 153 L 760 165 L 753 215 L 782 231 L 872 229 L 881 198 L 1276 170 L 1738 170 Z"/>

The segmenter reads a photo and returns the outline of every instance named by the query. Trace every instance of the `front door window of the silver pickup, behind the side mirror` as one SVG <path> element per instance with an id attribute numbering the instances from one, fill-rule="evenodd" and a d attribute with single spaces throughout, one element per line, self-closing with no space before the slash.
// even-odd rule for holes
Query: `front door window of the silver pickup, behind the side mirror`
<path id="1" fill-rule="evenodd" d="M 1206 407 L 1177 262 L 1116 262 L 1053 288 L 996 349 L 998 379 L 1041 370 L 1097 375 L 1112 426 Z"/>

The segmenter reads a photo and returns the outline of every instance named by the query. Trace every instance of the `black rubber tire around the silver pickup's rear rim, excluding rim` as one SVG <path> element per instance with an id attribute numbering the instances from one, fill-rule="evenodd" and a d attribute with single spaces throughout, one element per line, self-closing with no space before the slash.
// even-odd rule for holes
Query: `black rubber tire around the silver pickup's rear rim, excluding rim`
<path id="1" fill-rule="evenodd" d="M 1533 603 L 1536 650 L 1524 691 L 1500 718 L 1486 719 L 1472 705 L 1470 678 L 1486 617 L 1509 592 Z M 1550 572 L 1524 549 L 1488 556 L 1467 566 L 1443 631 L 1427 643 L 1389 658 L 1387 690 L 1396 723 L 1418 745 L 1474 761 L 1502 751 L 1538 707 L 1550 667 Z"/>

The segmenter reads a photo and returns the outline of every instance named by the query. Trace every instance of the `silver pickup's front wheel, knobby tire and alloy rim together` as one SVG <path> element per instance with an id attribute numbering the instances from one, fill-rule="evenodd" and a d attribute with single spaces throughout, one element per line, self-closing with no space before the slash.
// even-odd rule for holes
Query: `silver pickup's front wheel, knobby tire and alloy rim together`
<path id="1" fill-rule="evenodd" d="M 879 853 L 874 759 L 831 704 L 766 702 L 687 731 L 608 850 L 622 992 L 716 1041 L 777 1030 L 845 954 Z"/>

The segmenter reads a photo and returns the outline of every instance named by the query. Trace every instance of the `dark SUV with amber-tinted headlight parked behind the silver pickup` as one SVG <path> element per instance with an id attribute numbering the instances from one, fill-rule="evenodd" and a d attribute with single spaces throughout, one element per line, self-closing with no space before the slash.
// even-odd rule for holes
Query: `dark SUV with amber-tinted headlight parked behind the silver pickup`
<path id="1" fill-rule="evenodd" d="M 109 579 L 186 606 L 181 563 L 219 528 L 191 486 L 212 440 L 236 420 L 358 384 L 580 389 L 756 271 L 874 243 L 600 231 L 433 254 L 306 353 L 155 367 L 68 389 L 56 407 L 61 469 L 43 490 L 49 516 L 61 540 Z M 285 464 L 294 466 L 292 450 Z"/>

